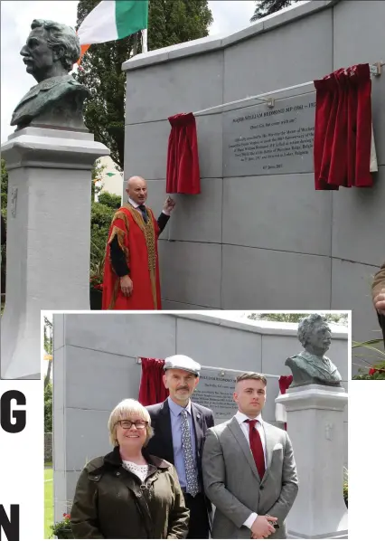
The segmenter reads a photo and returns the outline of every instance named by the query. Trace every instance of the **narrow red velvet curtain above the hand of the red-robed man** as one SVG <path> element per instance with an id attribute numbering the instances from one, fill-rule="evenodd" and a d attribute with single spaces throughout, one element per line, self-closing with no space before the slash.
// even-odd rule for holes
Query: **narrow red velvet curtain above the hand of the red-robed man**
<path id="1" fill-rule="evenodd" d="M 192 113 L 169 117 L 166 192 L 167 194 L 201 193 L 198 140 Z"/>

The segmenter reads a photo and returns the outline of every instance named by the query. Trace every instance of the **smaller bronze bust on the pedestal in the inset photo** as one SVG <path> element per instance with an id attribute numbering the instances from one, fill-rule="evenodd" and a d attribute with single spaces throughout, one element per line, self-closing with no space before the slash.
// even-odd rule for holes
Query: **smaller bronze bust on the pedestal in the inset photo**
<path id="1" fill-rule="evenodd" d="M 305 350 L 286 359 L 293 374 L 290 387 L 318 384 L 341 387 L 342 377 L 332 361 L 324 356 L 332 342 L 332 333 L 324 318 L 311 314 L 298 324 L 298 340 Z"/>

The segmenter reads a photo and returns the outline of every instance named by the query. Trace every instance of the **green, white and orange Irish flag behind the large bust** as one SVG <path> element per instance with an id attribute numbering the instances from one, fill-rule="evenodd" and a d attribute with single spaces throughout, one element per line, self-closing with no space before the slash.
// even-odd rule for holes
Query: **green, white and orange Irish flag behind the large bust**
<path id="1" fill-rule="evenodd" d="M 148 0 L 102 0 L 78 29 L 80 59 L 89 45 L 121 40 L 139 30 L 145 30 L 147 22 Z"/>

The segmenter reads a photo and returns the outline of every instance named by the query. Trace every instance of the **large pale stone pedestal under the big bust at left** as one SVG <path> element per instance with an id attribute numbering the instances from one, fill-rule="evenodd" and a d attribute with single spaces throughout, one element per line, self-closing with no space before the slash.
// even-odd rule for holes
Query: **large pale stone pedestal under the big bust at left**
<path id="1" fill-rule="evenodd" d="M 93 135 L 24 128 L 2 146 L 8 170 L 1 378 L 40 378 L 41 310 L 89 309 Z"/>

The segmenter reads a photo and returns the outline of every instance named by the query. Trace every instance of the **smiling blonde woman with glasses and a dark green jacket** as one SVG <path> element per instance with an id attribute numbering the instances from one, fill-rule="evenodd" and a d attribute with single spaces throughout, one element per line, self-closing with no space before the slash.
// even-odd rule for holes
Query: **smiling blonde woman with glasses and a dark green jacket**
<path id="1" fill-rule="evenodd" d="M 109 416 L 113 451 L 80 473 L 70 512 L 75 539 L 183 539 L 189 510 L 174 466 L 146 452 L 150 415 L 123 400 Z"/>

